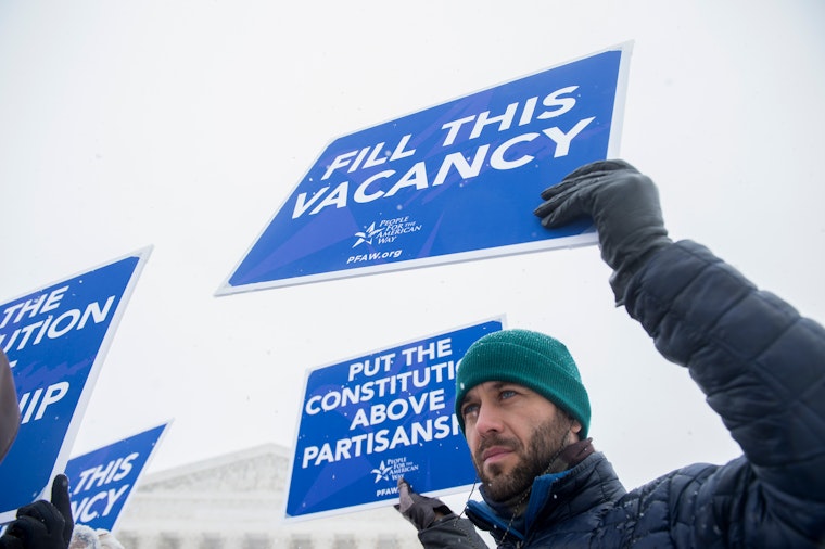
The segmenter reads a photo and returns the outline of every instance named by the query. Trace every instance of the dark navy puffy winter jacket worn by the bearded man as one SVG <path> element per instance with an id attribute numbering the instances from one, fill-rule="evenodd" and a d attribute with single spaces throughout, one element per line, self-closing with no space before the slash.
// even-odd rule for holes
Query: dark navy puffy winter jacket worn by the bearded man
<path id="1" fill-rule="evenodd" d="M 597 452 L 536 480 L 522 532 L 507 532 L 485 503 L 468 516 L 500 547 L 825 547 L 823 327 L 689 241 L 651 258 L 625 307 L 664 357 L 689 369 L 745 456 L 625 493 Z M 450 516 L 419 538 L 479 547 L 470 527 Z"/>

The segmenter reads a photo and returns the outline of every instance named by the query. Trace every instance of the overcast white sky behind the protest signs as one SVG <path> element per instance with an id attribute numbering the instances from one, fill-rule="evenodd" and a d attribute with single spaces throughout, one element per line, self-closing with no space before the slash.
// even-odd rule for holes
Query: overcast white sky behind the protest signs
<path id="1" fill-rule="evenodd" d="M 568 344 L 629 487 L 725 461 L 593 246 L 214 292 L 332 139 L 633 40 L 621 155 L 671 234 L 822 322 L 824 25 L 818 0 L 0 0 L 0 302 L 154 246 L 74 452 L 174 419 L 150 471 L 291 446 L 306 369 L 498 315 Z"/>

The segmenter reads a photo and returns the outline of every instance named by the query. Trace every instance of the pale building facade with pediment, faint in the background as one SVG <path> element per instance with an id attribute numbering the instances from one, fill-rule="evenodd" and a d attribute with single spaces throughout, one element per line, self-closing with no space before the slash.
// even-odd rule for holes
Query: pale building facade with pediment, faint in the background
<path id="1" fill-rule="evenodd" d="M 126 549 L 411 549 L 394 509 L 284 523 L 289 450 L 264 445 L 147 474 L 117 522 Z"/>

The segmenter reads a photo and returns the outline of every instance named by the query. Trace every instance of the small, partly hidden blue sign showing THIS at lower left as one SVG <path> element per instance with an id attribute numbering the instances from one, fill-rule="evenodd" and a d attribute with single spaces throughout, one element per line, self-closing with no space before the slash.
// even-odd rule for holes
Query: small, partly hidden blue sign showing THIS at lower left
<path id="1" fill-rule="evenodd" d="M 112 532 L 168 423 L 68 460 L 75 524 Z"/>

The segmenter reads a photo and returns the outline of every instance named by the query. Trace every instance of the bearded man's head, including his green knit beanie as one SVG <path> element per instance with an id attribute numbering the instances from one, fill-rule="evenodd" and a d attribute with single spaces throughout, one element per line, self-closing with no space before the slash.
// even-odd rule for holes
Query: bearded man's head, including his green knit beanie
<path id="1" fill-rule="evenodd" d="M 494 332 L 468 349 L 456 374 L 456 417 L 482 489 L 508 507 L 525 503 L 536 476 L 593 452 L 579 369 L 563 344 L 537 332 Z M 568 448 L 575 451 L 562 459 Z"/>

